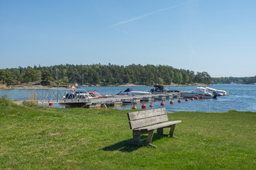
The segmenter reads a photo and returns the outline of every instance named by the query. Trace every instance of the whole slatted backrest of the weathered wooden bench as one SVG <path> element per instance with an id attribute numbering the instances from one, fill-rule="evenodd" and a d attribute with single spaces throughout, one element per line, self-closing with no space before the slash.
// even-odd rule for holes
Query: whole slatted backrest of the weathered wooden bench
<path id="1" fill-rule="evenodd" d="M 166 108 L 156 108 L 148 111 L 137 111 L 127 113 L 131 129 L 142 128 L 168 121 Z"/>

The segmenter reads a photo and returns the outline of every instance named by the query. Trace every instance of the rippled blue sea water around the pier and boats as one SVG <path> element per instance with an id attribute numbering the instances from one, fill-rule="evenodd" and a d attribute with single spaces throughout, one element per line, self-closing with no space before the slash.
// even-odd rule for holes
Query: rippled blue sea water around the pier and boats
<path id="1" fill-rule="evenodd" d="M 240 85 L 240 84 L 218 84 L 210 86 L 214 89 L 221 89 L 229 92 L 228 96 L 218 97 L 216 99 L 203 99 L 188 101 L 182 100 L 178 103 L 178 99 L 174 99 L 174 104 L 171 105 L 169 102 L 171 100 L 164 101 L 166 111 L 176 112 L 176 111 L 203 111 L 203 112 L 227 112 L 230 110 L 235 111 L 253 111 L 256 112 L 256 86 L 255 85 Z M 111 86 L 111 87 L 86 87 L 86 91 L 98 91 L 102 95 L 112 95 L 118 94 L 119 91 L 124 91 L 128 87 Z M 142 86 L 142 87 L 131 87 L 136 91 L 149 91 L 153 87 Z M 180 90 L 180 91 L 191 91 L 195 89 L 196 86 L 170 86 L 170 90 Z M 81 89 L 82 90 L 82 89 Z M 28 100 L 31 94 L 31 90 L 0 90 L 0 96 L 7 96 L 12 100 L 22 101 Z M 161 101 L 153 102 L 153 108 L 160 108 Z M 149 107 L 151 103 L 146 103 L 146 109 L 151 109 Z M 137 108 L 141 108 L 141 104 L 135 105 Z M 55 104 L 55 107 L 61 107 Z M 117 106 L 119 109 L 130 109 L 131 105 L 127 106 Z"/>

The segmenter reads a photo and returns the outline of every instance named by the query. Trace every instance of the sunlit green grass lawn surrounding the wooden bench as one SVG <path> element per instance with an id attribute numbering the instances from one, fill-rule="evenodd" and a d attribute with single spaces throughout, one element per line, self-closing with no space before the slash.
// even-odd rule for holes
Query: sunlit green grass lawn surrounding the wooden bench
<path id="1" fill-rule="evenodd" d="M 169 113 L 157 148 L 126 145 L 126 113 L 1 101 L 0 169 L 256 169 L 256 113 Z"/>

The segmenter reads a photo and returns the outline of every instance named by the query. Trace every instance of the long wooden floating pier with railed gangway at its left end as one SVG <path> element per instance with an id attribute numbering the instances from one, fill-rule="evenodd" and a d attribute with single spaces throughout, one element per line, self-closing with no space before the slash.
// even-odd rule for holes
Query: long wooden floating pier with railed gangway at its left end
<path id="1" fill-rule="evenodd" d="M 82 107 L 82 108 L 107 108 L 114 105 L 127 105 L 141 102 L 164 101 L 169 98 L 177 98 L 178 93 L 169 94 L 146 94 L 136 96 L 119 96 L 111 95 L 97 98 L 66 98 L 70 90 L 67 89 L 33 89 L 31 96 L 38 100 L 39 104 L 60 103 L 66 107 Z"/>

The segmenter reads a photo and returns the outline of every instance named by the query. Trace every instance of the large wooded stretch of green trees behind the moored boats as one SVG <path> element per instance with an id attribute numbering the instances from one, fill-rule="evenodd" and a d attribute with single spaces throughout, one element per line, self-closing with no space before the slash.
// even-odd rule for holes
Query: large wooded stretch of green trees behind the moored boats
<path id="1" fill-rule="evenodd" d="M 100 84 L 102 86 L 119 84 L 211 84 L 207 72 L 195 72 L 188 69 L 175 69 L 167 65 L 131 64 L 119 66 L 115 64 L 73 65 L 60 64 L 50 67 L 18 67 L 0 69 L 0 80 L 4 84 L 20 84 L 23 82 L 41 81 L 49 84 L 58 81 L 60 84 Z"/>

